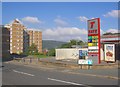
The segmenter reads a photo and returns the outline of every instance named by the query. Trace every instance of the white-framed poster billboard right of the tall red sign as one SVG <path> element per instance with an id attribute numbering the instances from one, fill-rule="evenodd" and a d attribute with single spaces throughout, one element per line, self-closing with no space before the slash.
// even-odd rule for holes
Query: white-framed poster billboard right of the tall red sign
<path id="1" fill-rule="evenodd" d="M 115 45 L 114 44 L 105 44 L 105 61 L 115 62 Z"/>

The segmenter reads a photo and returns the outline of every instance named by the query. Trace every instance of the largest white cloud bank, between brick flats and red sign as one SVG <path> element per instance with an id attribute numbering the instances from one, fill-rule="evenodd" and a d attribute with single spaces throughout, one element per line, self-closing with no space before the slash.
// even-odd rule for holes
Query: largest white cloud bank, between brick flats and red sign
<path id="1" fill-rule="evenodd" d="M 69 41 L 71 39 L 79 39 L 87 41 L 87 30 L 77 27 L 57 27 L 56 29 L 46 29 L 43 31 L 43 39 Z"/>

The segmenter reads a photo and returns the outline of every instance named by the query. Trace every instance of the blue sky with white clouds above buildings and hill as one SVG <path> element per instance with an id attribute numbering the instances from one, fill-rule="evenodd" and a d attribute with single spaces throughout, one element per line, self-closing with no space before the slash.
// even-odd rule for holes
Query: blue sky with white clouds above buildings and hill
<path id="1" fill-rule="evenodd" d="M 101 34 L 117 32 L 118 11 L 117 2 L 3 2 L 2 23 L 18 18 L 44 40 L 87 41 L 87 20 L 100 18 Z"/>

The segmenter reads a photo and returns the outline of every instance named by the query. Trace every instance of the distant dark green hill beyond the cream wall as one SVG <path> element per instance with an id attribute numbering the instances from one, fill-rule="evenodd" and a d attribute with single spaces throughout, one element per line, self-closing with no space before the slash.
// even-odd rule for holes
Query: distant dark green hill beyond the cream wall
<path id="1" fill-rule="evenodd" d="M 43 49 L 47 48 L 50 50 L 52 48 L 57 48 L 65 43 L 67 42 L 54 41 L 54 40 L 42 40 L 42 48 Z"/>

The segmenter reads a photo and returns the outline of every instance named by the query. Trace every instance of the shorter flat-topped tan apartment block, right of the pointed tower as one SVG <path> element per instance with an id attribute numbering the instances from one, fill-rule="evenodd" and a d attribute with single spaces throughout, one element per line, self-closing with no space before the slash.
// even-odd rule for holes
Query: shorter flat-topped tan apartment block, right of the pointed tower
<path id="1" fill-rule="evenodd" d="M 39 30 L 27 30 L 29 35 L 29 45 L 33 43 L 37 46 L 38 52 L 42 52 L 42 32 Z"/>

